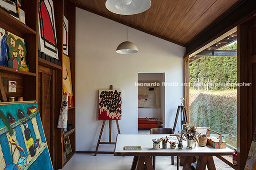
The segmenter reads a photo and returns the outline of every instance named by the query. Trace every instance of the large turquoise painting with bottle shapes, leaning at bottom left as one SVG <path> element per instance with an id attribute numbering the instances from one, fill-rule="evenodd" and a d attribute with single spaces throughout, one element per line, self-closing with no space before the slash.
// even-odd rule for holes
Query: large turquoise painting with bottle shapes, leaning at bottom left
<path id="1" fill-rule="evenodd" d="M 35 101 L 0 103 L 0 170 L 53 170 Z"/>

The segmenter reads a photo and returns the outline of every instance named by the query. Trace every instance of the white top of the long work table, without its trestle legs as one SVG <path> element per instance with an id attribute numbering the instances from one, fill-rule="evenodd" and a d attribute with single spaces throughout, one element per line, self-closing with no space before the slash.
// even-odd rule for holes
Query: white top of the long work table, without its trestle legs
<path id="1" fill-rule="evenodd" d="M 170 148 L 168 143 L 167 149 L 153 149 L 151 139 L 159 139 L 169 136 L 169 134 L 161 135 L 117 135 L 117 143 L 114 151 L 114 156 L 217 156 L 217 155 L 232 155 L 234 150 L 229 148 L 214 149 L 210 146 L 201 147 L 196 144 L 194 149 L 187 149 L 187 141 L 183 140 L 183 149 L 178 149 L 176 144 L 175 149 Z M 141 146 L 142 150 L 124 150 L 124 146 Z M 160 148 L 162 144 L 160 143 Z"/>

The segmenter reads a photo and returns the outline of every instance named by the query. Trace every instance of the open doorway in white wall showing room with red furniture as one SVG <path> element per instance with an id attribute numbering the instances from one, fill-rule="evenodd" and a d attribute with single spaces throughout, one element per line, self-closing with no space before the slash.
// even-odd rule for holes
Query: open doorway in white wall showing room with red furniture
<path id="1" fill-rule="evenodd" d="M 138 74 L 138 133 L 164 127 L 164 73 Z"/>

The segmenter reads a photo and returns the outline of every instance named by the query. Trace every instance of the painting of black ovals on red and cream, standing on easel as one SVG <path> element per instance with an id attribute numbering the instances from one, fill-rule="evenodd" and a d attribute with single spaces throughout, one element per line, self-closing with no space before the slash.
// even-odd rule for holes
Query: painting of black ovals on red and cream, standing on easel
<path id="1" fill-rule="evenodd" d="M 122 91 L 99 90 L 99 120 L 121 120 Z"/>

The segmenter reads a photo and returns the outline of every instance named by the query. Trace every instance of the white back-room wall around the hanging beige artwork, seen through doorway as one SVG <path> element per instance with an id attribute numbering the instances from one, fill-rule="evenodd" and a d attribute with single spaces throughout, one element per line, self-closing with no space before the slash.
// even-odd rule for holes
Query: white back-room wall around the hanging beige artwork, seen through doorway
<path id="1" fill-rule="evenodd" d="M 164 73 L 139 73 L 139 81 L 159 81 L 159 108 L 138 108 L 138 118 L 157 118 L 164 120 Z"/>

